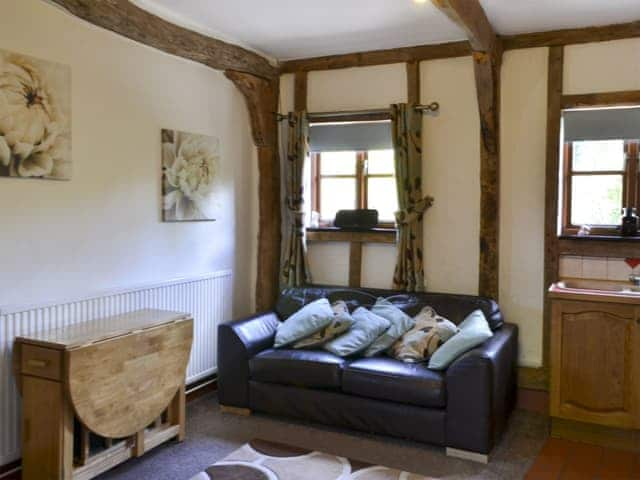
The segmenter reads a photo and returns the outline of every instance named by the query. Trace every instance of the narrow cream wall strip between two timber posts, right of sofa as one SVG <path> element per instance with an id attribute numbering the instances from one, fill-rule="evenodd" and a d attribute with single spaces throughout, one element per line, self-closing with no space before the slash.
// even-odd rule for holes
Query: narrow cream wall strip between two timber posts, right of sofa
<path id="1" fill-rule="evenodd" d="M 500 307 L 520 327 L 520 363 L 542 359 L 548 49 L 502 64 Z"/>

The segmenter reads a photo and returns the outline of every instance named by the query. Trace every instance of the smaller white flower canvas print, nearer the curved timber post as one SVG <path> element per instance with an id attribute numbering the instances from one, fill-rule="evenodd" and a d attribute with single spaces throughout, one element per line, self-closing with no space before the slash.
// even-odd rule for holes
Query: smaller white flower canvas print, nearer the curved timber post
<path id="1" fill-rule="evenodd" d="M 217 138 L 162 130 L 164 221 L 214 220 L 219 164 Z"/>

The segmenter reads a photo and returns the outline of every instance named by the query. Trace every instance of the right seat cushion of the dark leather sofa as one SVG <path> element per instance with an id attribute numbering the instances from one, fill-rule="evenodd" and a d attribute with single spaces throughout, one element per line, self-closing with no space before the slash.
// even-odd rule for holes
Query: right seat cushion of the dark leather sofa
<path id="1" fill-rule="evenodd" d="M 444 375 L 422 363 L 387 357 L 354 360 L 344 367 L 342 391 L 362 397 L 421 407 L 446 405 Z"/>

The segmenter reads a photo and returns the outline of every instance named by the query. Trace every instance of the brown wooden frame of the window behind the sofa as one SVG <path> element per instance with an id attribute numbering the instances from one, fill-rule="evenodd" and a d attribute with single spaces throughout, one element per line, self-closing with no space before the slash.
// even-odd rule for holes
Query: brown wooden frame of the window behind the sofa
<path id="1" fill-rule="evenodd" d="M 395 179 L 395 172 L 393 174 L 375 173 L 369 174 L 367 171 L 367 161 L 369 159 L 369 152 L 366 150 L 356 151 L 356 172 L 353 175 L 322 175 L 322 152 L 311 152 L 311 208 L 318 212 L 320 215 L 319 224 L 320 227 L 330 227 L 332 221 L 322 218 L 321 205 L 321 185 L 323 178 L 353 178 L 356 182 L 356 206 L 355 208 L 368 208 L 369 203 L 369 179 L 370 178 L 392 178 Z M 395 228 L 395 221 L 381 220 L 378 222 L 376 228 Z"/>

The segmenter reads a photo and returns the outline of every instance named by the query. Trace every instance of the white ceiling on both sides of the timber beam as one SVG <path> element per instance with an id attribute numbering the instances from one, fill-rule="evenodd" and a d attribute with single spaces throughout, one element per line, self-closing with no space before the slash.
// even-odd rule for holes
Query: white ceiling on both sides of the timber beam
<path id="1" fill-rule="evenodd" d="M 130 0 L 165 20 L 272 59 L 465 39 L 427 0 Z M 640 19 L 639 0 L 480 0 L 503 35 Z"/>

